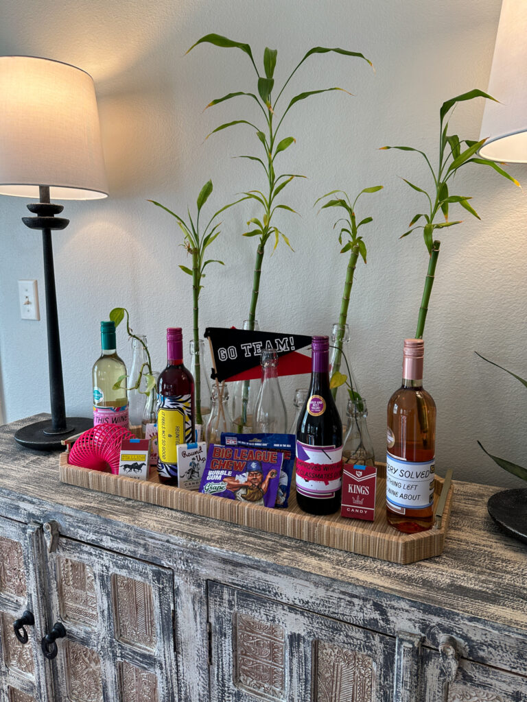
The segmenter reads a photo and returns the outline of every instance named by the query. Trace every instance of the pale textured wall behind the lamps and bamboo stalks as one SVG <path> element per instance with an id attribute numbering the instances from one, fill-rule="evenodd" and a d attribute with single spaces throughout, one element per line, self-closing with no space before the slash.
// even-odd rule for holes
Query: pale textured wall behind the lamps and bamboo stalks
<path id="1" fill-rule="evenodd" d="M 261 183 L 252 164 L 230 159 L 258 149 L 250 131 L 234 128 L 203 143 L 214 126 L 251 110 L 233 100 L 202 114 L 212 98 L 254 90 L 252 67 L 239 51 L 203 46 L 185 56 L 188 46 L 219 32 L 248 41 L 261 62 L 268 44 L 278 48 L 278 81 L 311 46 L 342 46 L 363 51 L 377 72 L 337 55 L 313 57 L 299 71 L 292 94 L 337 85 L 355 97 L 311 98 L 287 121 L 284 135 L 294 135 L 297 144 L 281 164 L 309 180 L 285 191 L 302 214 L 281 218 L 296 253 L 280 246 L 273 258 L 266 255 L 257 317 L 263 329 L 330 331 L 346 258 L 339 256 L 330 215 L 315 216 L 313 201 L 335 187 L 356 192 L 384 184 L 382 193 L 363 201 L 375 222 L 363 230 L 368 264 L 357 272 L 349 314 L 353 368 L 382 458 L 386 402 L 400 382 L 403 338 L 415 333 L 427 268 L 420 234 L 398 240 L 422 206 L 398 176 L 429 182 L 417 157 L 377 147 L 436 148 L 441 102 L 474 87 L 486 90 L 499 14 L 500 0 L 32 0 L 30 6 L 4 0 L 0 53 L 78 65 L 93 75 L 98 91 L 110 197 L 67 203 L 71 225 L 54 234 L 68 411 L 91 411 L 99 322 L 115 305 L 129 307 L 134 329 L 148 335 L 158 369 L 165 327 L 181 324 L 189 338 L 189 279 L 178 269 L 186 258 L 181 232 L 146 199 L 184 211 L 212 177 L 211 201 L 219 207 Z M 481 100 L 458 107 L 453 123 L 462 136 L 477 138 L 482 112 Z M 516 166 L 514 175 L 527 181 L 526 167 Z M 476 439 L 526 463 L 526 391 L 476 359 L 474 350 L 527 375 L 527 204 L 523 192 L 490 168 L 468 166 L 458 180 L 460 194 L 474 196 L 482 222 L 462 211 L 465 223 L 441 237 L 425 333 L 426 386 L 438 405 L 438 468 L 451 466 L 460 479 L 514 485 L 519 481 L 486 458 Z M 20 278 L 38 279 L 44 309 L 39 234 L 22 225 L 24 211 L 22 199 L 0 197 L 6 420 L 48 409 L 45 322 L 22 322 L 18 313 Z M 255 241 L 240 234 L 252 212 L 248 206 L 231 211 L 211 249 L 227 266 L 207 275 L 203 329 L 247 317 Z M 119 338 L 124 347 L 122 332 Z M 128 348 L 124 355 L 129 358 Z M 294 385 L 284 383 L 288 404 Z"/>

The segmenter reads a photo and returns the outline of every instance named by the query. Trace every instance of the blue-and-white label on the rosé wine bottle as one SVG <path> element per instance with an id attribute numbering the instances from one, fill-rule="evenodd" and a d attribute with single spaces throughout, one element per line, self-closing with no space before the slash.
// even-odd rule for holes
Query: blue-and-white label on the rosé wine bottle
<path id="1" fill-rule="evenodd" d="M 386 503 L 401 515 L 434 503 L 435 461 L 414 463 L 386 453 Z"/>

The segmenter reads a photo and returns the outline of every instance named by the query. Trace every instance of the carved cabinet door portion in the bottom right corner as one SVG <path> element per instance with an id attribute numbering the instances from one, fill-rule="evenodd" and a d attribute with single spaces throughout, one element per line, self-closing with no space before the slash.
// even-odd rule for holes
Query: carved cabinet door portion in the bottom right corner
<path id="1" fill-rule="evenodd" d="M 499 661 L 497 661 L 498 663 Z M 527 677 L 461 658 L 450 680 L 437 651 L 422 651 L 423 702 L 525 702 Z M 526 670 L 527 673 L 527 670 Z"/>

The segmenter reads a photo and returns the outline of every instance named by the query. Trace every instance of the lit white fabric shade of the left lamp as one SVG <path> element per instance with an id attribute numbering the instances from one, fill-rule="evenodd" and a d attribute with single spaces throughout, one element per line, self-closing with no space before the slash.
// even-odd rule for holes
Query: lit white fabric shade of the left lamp
<path id="1" fill-rule="evenodd" d="M 51 199 L 106 197 L 91 76 L 66 63 L 0 57 L 0 194 Z"/>

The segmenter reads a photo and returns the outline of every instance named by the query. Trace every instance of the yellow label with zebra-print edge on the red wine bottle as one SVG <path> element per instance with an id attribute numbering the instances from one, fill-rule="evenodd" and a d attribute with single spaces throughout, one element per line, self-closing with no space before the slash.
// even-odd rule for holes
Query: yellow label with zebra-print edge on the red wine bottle
<path id="1" fill-rule="evenodd" d="M 190 395 L 157 395 L 157 472 L 177 477 L 178 444 L 193 441 Z"/>

